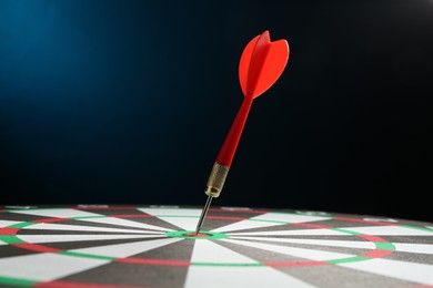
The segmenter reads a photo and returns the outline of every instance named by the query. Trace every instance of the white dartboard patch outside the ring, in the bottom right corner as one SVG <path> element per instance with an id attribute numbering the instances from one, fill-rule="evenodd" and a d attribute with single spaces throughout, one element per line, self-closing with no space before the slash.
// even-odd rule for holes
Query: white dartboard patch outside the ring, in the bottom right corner
<path id="1" fill-rule="evenodd" d="M 423 285 L 433 285 L 433 266 L 389 259 L 342 263 L 339 266 Z"/>

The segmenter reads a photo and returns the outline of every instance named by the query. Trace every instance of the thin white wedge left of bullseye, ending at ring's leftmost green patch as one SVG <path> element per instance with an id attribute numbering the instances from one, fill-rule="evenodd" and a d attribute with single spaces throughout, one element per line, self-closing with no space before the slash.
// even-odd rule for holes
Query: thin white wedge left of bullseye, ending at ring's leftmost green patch
<path id="1" fill-rule="evenodd" d="M 63 241 L 92 241 L 92 240 L 115 240 L 115 239 L 142 239 L 155 238 L 160 235 L 19 235 L 26 243 L 63 243 Z M 1 243 L 0 243 L 1 245 Z"/>

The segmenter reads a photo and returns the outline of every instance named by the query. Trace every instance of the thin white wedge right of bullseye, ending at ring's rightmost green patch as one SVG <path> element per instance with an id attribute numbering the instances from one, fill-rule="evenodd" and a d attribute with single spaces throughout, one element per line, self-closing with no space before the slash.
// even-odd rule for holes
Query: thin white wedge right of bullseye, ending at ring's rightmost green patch
<path id="1" fill-rule="evenodd" d="M 361 248 L 361 249 L 375 249 L 375 245 L 372 241 L 348 241 L 348 240 L 319 240 L 319 239 L 286 239 L 286 238 L 270 238 L 270 237 L 243 237 L 232 236 L 231 239 L 240 240 L 259 240 L 259 241 L 274 241 L 274 243 L 293 243 L 293 244 L 308 244 L 319 245 L 328 247 L 345 247 L 345 248 Z"/>

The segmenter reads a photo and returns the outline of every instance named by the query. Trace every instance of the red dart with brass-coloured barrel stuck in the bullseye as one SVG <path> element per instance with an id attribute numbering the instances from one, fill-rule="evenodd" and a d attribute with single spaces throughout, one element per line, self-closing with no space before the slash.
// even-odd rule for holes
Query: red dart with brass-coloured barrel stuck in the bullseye
<path id="1" fill-rule="evenodd" d="M 197 225 L 195 234 L 200 232 L 212 198 L 220 196 L 253 100 L 275 83 L 283 73 L 288 60 L 288 41 L 281 39 L 271 42 L 269 31 L 255 37 L 243 50 L 239 63 L 239 81 L 244 99 L 209 176 L 205 191 L 209 197 Z"/>

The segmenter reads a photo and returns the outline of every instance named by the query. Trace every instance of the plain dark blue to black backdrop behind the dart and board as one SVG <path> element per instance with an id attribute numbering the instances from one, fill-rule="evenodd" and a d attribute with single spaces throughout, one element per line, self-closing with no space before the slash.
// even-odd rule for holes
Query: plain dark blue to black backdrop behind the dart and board
<path id="1" fill-rule="evenodd" d="M 191 204 L 270 30 L 214 205 L 433 220 L 433 1 L 0 0 L 1 204 Z"/>

